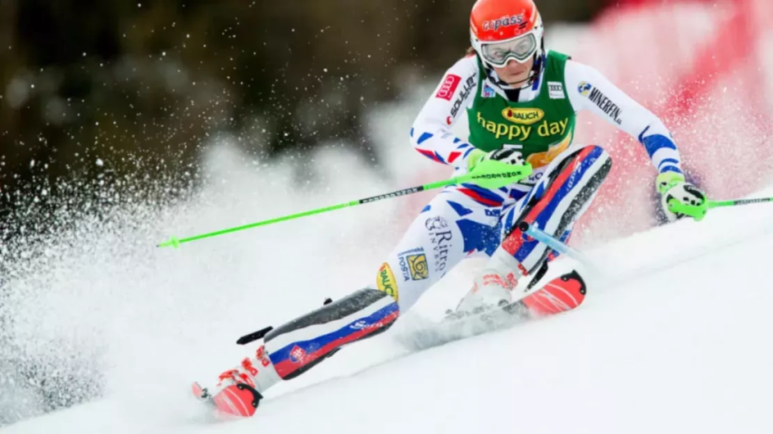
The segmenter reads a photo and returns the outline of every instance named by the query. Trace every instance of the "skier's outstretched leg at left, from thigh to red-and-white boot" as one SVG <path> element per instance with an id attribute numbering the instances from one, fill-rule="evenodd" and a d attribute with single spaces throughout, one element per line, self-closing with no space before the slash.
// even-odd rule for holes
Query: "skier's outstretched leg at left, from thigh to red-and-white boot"
<path id="1" fill-rule="evenodd" d="M 223 372 L 211 393 L 219 409 L 252 415 L 267 388 L 301 375 L 343 345 L 386 331 L 428 287 L 468 253 L 499 240 L 506 192 L 474 185 L 447 188 L 417 216 L 380 266 L 373 288 L 272 330 L 254 357 Z M 375 289 L 378 288 L 378 289 Z M 201 395 L 202 389 L 195 390 Z"/>

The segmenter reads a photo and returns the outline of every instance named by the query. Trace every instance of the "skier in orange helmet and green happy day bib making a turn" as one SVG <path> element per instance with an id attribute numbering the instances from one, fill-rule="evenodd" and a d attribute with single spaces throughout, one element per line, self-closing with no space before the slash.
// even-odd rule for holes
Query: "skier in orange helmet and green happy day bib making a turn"
<path id="1" fill-rule="evenodd" d="M 459 312 L 516 300 L 536 314 L 576 307 L 582 300 L 577 285 L 539 289 L 546 300 L 563 300 L 547 307 L 536 302 L 537 293 L 513 288 L 524 276 L 544 271 L 556 256 L 524 236 L 519 223 L 566 242 L 611 168 L 601 147 L 572 143 L 580 110 L 638 139 L 658 171 L 656 190 L 663 204 L 671 198 L 684 205 L 705 200 L 686 182 L 676 144 L 658 117 L 591 66 L 544 49 L 543 23 L 533 0 L 478 0 L 470 35 L 468 55 L 451 66 L 424 104 L 410 141 L 427 158 L 450 164 L 455 175 L 493 159 L 531 164 L 530 177 L 499 189 L 445 188 L 410 225 L 369 287 L 269 331 L 254 356 L 223 372 L 214 388 L 194 383 L 195 395 L 223 412 L 253 415 L 267 388 L 301 375 L 342 345 L 386 331 L 472 255 L 490 259 L 458 304 Z M 468 140 L 451 133 L 462 117 L 468 120 Z M 672 221 L 683 217 L 666 207 L 664 212 Z"/>

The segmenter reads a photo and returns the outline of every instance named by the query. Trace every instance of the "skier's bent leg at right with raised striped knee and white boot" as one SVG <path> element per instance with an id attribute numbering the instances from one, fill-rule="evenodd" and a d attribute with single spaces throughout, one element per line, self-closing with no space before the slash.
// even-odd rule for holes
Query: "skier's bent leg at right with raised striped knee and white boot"
<path id="1" fill-rule="evenodd" d="M 555 257 L 553 250 L 524 236 L 517 223 L 529 222 L 558 239 L 567 240 L 574 222 L 588 208 L 610 168 L 609 154 L 592 145 L 570 147 L 551 162 L 545 176 L 530 192 L 503 212 L 502 244 L 476 278 L 472 290 L 461 300 L 458 310 L 491 307 L 497 300 L 482 300 L 479 293 L 512 290 L 520 277 L 536 273 L 548 259 Z M 517 300 L 523 295 L 512 294 L 512 297 Z M 503 300 L 510 302 L 512 297 Z"/>

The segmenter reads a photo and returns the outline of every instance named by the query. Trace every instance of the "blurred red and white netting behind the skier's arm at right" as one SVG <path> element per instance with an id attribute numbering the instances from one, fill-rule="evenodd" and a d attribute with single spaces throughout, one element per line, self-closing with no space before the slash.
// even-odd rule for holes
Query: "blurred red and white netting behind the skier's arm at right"
<path id="1" fill-rule="evenodd" d="M 768 0 L 615 2 L 572 55 L 598 67 L 673 132 L 690 178 L 714 198 L 770 183 L 773 154 L 765 68 Z M 768 50 L 769 51 L 769 50 Z M 578 142 L 604 146 L 614 168 L 574 242 L 656 224 L 656 171 L 643 147 L 581 114 Z"/>

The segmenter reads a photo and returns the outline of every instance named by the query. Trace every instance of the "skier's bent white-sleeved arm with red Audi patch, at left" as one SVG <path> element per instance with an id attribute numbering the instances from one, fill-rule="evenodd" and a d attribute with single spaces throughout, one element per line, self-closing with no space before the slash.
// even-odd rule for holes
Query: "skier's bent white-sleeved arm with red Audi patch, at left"
<path id="1" fill-rule="evenodd" d="M 410 143 L 419 153 L 442 164 L 466 164 L 475 147 L 451 133 L 451 127 L 466 117 L 477 88 L 475 57 L 465 57 L 446 71 L 410 129 Z"/>

